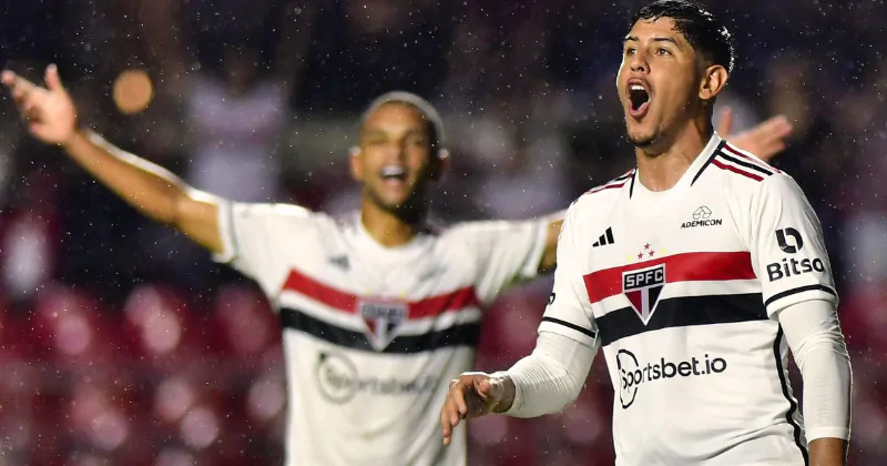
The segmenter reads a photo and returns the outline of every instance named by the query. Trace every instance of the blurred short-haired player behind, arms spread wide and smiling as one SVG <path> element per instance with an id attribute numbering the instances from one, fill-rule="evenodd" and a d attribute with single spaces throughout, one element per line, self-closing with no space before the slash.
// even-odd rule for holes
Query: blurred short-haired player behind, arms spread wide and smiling
<path id="1" fill-rule="evenodd" d="M 496 296 L 553 267 L 561 221 L 428 225 L 426 192 L 449 161 L 430 104 L 390 93 L 369 105 L 350 159 L 361 209 L 332 219 L 218 199 L 111 145 L 78 124 L 54 67 L 45 89 L 10 71 L 2 80 L 34 136 L 272 298 L 290 382 L 287 464 L 465 464 L 463 433 L 455 448 L 438 440 L 446 381 L 471 368 Z M 788 130 L 776 118 L 738 140 L 775 154 Z"/>

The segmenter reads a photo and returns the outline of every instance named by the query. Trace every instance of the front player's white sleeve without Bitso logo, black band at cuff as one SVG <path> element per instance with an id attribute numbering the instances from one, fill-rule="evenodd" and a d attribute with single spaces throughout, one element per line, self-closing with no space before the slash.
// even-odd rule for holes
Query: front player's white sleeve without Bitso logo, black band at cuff
<path id="1" fill-rule="evenodd" d="M 554 287 L 549 296 L 546 313 L 539 324 L 539 333 L 551 332 L 574 340 L 597 351 L 600 347 L 598 327 L 591 312 L 585 291 L 583 271 L 577 247 L 577 226 L 573 210 L 567 213 L 558 239 L 558 267 L 554 270 Z"/>

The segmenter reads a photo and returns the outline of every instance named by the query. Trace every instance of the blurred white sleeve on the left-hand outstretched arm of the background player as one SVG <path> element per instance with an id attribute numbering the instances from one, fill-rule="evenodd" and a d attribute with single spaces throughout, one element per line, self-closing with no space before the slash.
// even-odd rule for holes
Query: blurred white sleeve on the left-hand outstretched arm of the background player
<path id="1" fill-rule="evenodd" d="M 316 214 L 297 205 L 223 201 L 218 205 L 223 251 L 213 260 L 274 293 L 286 273 L 282 253 L 305 243 L 317 222 Z"/>

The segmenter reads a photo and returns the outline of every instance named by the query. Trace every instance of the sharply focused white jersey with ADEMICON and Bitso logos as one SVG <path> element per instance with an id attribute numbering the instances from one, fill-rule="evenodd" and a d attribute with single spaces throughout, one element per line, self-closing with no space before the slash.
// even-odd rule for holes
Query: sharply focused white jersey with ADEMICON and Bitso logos
<path id="1" fill-rule="evenodd" d="M 714 135 L 677 184 L 636 170 L 573 203 L 540 332 L 603 346 L 618 465 L 804 465 L 777 316 L 836 304 L 788 175 Z"/>

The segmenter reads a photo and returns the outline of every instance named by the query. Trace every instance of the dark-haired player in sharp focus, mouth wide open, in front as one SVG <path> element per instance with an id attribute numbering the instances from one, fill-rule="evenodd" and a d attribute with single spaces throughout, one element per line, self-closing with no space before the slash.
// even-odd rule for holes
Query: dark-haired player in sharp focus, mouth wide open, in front
<path id="1" fill-rule="evenodd" d="M 603 347 L 618 465 L 845 463 L 850 365 L 819 222 L 791 176 L 713 131 L 733 62 L 699 6 L 634 17 L 616 87 L 636 168 L 570 206 L 536 350 L 451 381 L 445 444 L 466 417 L 561 411 Z"/>

